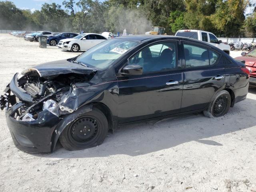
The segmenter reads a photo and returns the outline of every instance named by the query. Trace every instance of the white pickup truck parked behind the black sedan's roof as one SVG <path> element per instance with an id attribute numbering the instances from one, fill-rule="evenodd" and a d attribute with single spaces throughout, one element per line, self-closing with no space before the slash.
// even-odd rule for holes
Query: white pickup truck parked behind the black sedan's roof
<path id="1" fill-rule="evenodd" d="M 227 54 L 230 54 L 230 46 L 222 43 L 222 41 L 218 40 L 216 36 L 211 32 L 201 30 L 178 30 L 175 36 L 188 37 L 208 42 L 209 44 L 212 44 L 218 47 L 219 49 L 223 50 Z"/>

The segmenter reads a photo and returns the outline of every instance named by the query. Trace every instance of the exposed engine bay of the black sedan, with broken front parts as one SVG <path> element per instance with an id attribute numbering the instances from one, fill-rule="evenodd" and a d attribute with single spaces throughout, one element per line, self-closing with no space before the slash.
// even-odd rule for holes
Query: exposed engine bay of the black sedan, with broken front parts
<path id="1" fill-rule="evenodd" d="M 16 74 L 4 96 L 1 97 L 1 108 L 17 106 L 10 114 L 16 120 L 33 121 L 42 116 L 41 112 L 50 112 L 55 116 L 72 113 L 71 109 L 62 105 L 70 96 L 76 83 L 88 82 L 90 74 L 56 74 L 41 77 L 36 70 L 25 74 Z M 2 106 L 6 103 L 5 106 Z"/>

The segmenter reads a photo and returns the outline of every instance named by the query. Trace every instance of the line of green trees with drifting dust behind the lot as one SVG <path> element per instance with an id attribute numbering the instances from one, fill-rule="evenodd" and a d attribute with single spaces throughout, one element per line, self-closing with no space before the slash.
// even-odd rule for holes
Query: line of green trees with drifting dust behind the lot
<path id="1" fill-rule="evenodd" d="M 64 9 L 62 8 L 64 7 Z M 0 29 L 53 32 L 122 32 L 144 34 L 152 26 L 167 34 L 198 29 L 221 37 L 256 37 L 256 9 L 250 0 L 64 0 L 41 10 L 21 10 L 0 1 Z"/>

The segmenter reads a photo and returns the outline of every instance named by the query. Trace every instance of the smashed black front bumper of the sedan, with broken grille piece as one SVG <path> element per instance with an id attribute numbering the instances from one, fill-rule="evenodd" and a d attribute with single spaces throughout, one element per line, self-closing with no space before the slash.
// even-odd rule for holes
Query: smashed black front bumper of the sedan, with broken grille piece
<path id="1" fill-rule="evenodd" d="M 62 119 L 48 110 L 43 110 L 38 113 L 36 119 L 24 121 L 25 114 L 21 111 L 25 104 L 14 104 L 18 98 L 11 94 L 9 86 L 0 97 L 0 106 L 1 109 L 6 108 L 6 122 L 15 146 L 26 152 L 52 152 L 52 134 Z M 17 113 L 23 118 L 17 118 Z"/>

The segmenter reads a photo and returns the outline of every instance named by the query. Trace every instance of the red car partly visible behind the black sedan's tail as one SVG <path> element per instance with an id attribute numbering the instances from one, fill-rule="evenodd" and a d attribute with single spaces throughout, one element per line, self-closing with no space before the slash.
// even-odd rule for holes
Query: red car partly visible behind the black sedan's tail
<path id="1" fill-rule="evenodd" d="M 248 53 L 242 52 L 241 55 L 235 59 L 245 63 L 246 68 L 250 71 L 250 84 L 256 85 L 256 48 Z"/>

